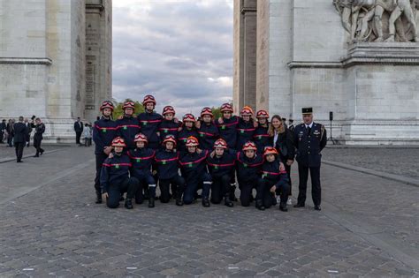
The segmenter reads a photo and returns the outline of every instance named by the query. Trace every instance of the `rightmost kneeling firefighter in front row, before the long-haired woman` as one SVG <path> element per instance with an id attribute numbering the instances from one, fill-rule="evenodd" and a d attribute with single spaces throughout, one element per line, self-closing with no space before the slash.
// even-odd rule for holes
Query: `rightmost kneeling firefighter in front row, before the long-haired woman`
<path id="1" fill-rule="evenodd" d="M 262 166 L 262 179 L 259 181 L 259 190 L 262 192 L 256 198 L 256 207 L 260 210 L 276 204 L 275 192 L 280 192 L 281 201 L 279 210 L 286 212 L 286 201 L 289 195 L 289 181 L 286 170 L 281 167 L 278 151 L 275 147 L 266 147 L 263 153 L 265 162 Z"/>

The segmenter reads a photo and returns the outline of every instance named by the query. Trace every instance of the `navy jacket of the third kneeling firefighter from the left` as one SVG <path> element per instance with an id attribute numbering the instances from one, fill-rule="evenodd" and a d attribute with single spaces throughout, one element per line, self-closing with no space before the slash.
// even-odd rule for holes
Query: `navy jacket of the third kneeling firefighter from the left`
<path id="1" fill-rule="evenodd" d="M 179 152 L 159 150 L 156 152 L 154 160 L 160 179 L 170 179 L 179 175 Z"/>

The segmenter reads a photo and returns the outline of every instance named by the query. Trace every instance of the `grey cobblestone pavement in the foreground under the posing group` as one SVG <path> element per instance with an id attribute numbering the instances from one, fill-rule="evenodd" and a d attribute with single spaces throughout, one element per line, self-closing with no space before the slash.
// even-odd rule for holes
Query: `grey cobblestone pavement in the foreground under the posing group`
<path id="1" fill-rule="evenodd" d="M 93 203 L 93 158 L 72 147 L 0 164 L 0 277 L 419 277 L 417 187 L 324 165 L 321 212 L 310 199 L 288 213 L 110 210 Z"/>

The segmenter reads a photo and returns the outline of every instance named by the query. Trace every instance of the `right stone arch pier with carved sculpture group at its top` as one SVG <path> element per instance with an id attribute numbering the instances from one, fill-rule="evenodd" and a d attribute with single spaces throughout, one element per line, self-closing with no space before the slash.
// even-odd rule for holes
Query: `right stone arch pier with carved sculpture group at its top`
<path id="1" fill-rule="evenodd" d="M 236 109 L 313 107 L 342 144 L 419 144 L 419 1 L 369 2 L 235 0 Z"/>

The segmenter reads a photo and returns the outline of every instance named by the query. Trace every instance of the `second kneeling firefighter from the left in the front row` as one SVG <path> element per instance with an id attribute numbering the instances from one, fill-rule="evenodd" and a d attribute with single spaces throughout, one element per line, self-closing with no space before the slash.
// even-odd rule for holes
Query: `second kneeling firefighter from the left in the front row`
<path id="1" fill-rule="evenodd" d="M 139 188 L 135 193 L 135 203 L 142 204 L 144 200 L 142 191 L 149 188 L 149 207 L 155 207 L 156 180 L 151 175 L 151 165 L 154 162 L 156 152 L 147 147 L 148 139 L 142 133 L 135 135 L 133 141 L 136 144 L 135 148 L 127 151 L 126 154 L 131 158 L 131 163 L 133 164 L 130 172 L 139 181 Z"/>

